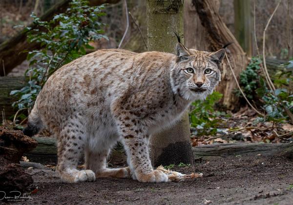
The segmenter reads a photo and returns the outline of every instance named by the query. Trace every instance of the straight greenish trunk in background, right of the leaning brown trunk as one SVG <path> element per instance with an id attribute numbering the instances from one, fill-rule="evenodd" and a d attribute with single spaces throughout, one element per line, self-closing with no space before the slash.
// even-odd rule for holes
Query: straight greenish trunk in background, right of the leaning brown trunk
<path id="1" fill-rule="evenodd" d="M 252 56 L 251 0 L 234 0 L 235 37 L 247 56 Z"/>

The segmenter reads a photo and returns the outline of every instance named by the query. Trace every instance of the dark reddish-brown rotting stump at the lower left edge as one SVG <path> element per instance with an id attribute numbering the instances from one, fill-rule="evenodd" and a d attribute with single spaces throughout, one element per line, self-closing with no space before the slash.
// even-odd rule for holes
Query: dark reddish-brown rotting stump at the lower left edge
<path id="1" fill-rule="evenodd" d="M 21 168 L 20 159 L 24 152 L 33 150 L 37 144 L 22 131 L 0 127 L 0 191 L 23 193 L 33 183 L 32 177 Z"/>

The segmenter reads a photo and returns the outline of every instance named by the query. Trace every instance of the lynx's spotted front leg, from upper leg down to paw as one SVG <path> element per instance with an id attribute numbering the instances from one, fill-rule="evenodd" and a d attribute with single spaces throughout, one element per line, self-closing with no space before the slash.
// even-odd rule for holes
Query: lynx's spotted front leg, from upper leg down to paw
<path id="1" fill-rule="evenodd" d="M 136 106 L 132 102 L 127 102 L 129 99 L 118 100 L 111 109 L 126 150 L 132 178 L 139 182 L 167 182 L 167 175 L 161 170 L 154 170 L 151 165 L 146 129 L 138 117 L 140 113 L 129 111 L 130 107 Z"/>

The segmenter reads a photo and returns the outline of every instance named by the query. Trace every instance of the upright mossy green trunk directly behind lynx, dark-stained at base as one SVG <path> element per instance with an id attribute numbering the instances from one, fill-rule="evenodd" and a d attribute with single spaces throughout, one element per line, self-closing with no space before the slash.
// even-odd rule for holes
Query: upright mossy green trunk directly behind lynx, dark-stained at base
<path id="1" fill-rule="evenodd" d="M 174 53 L 177 43 L 174 32 L 183 37 L 183 1 L 147 0 L 147 47 Z M 183 41 L 183 38 L 182 38 Z M 150 141 L 152 163 L 193 164 L 188 113 L 171 129 L 152 136 Z"/>

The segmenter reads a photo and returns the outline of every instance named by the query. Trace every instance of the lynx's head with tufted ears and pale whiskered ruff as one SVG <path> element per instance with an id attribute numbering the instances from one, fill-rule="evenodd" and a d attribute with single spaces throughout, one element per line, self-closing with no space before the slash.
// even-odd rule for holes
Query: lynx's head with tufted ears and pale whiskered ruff
<path id="1" fill-rule="evenodd" d="M 224 48 L 216 52 L 197 51 L 186 48 L 179 41 L 170 75 L 173 92 L 186 100 L 206 99 L 221 81 L 220 67 L 224 57 Z"/>

